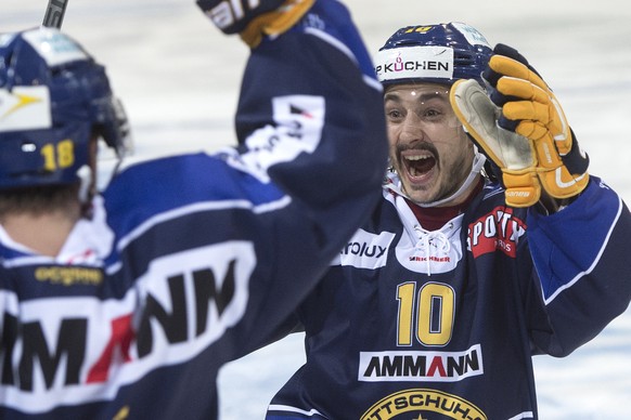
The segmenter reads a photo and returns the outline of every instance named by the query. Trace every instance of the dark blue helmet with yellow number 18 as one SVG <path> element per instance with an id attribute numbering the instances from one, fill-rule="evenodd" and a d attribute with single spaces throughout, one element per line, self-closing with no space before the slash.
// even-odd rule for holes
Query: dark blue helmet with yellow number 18
<path id="1" fill-rule="evenodd" d="M 120 157 L 129 126 L 103 66 L 51 28 L 0 35 L 0 189 L 70 184 L 90 139 Z"/>

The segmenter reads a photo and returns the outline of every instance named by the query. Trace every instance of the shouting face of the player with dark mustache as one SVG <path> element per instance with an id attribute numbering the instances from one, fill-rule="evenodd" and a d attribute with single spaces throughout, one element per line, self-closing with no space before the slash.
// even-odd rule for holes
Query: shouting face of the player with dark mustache
<path id="1" fill-rule="evenodd" d="M 428 204 L 455 193 L 472 170 L 474 148 L 449 104 L 449 88 L 391 86 L 384 101 L 390 163 L 405 194 Z"/>

